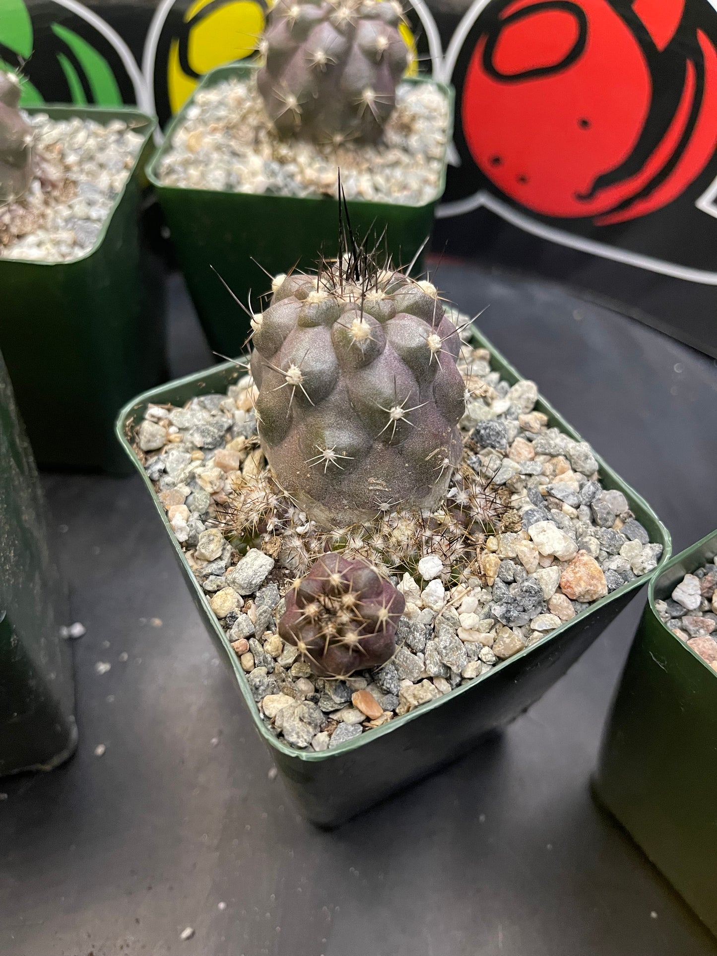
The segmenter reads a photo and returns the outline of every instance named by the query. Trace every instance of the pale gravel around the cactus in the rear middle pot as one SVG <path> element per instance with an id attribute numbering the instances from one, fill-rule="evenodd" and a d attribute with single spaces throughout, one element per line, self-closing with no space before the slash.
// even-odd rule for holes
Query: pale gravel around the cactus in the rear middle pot
<path id="1" fill-rule="evenodd" d="M 254 78 L 228 79 L 194 98 L 159 166 L 163 185 L 280 196 L 337 195 L 423 206 L 444 163 L 448 103 L 432 83 L 401 83 L 382 141 L 342 146 L 282 140 Z"/>

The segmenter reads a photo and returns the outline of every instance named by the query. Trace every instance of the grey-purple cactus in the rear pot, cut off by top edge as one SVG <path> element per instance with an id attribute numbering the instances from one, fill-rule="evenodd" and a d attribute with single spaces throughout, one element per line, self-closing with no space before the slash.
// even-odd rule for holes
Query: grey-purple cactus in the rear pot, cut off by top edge
<path id="1" fill-rule="evenodd" d="M 257 81 L 282 136 L 376 141 L 408 57 L 395 0 L 279 0 Z"/>

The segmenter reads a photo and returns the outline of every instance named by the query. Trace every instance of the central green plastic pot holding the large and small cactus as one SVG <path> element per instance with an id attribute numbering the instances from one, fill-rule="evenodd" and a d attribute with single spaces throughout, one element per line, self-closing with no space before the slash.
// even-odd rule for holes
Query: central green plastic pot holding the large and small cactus
<path id="1" fill-rule="evenodd" d="M 506 359 L 477 332 L 475 342 L 489 349 L 493 369 L 500 370 L 506 380 L 514 383 L 521 379 Z M 498 664 L 470 684 L 457 687 L 381 728 L 362 734 L 334 750 L 320 753 L 294 750 L 274 737 L 262 722 L 251 697 L 247 676 L 227 635 L 211 612 L 207 596 L 192 574 L 162 503 L 132 448 L 136 428 L 148 404 L 171 402 L 181 406 L 197 395 L 225 392 L 240 374 L 243 373 L 236 365 L 228 362 L 145 392 L 120 412 L 118 437 L 152 495 L 209 636 L 234 675 L 254 726 L 271 751 L 276 767 L 304 815 L 320 826 L 336 826 L 467 752 L 482 737 L 505 726 L 534 704 L 635 597 L 645 579 L 636 578 L 623 585 L 596 601 L 578 618 L 556 628 L 544 641 Z M 551 424 L 580 441 L 576 431 L 548 402 L 539 400 L 537 408 L 548 415 Z M 630 508 L 650 533 L 650 539 L 663 545 L 662 566 L 670 552 L 669 532 L 636 491 L 599 458 L 597 461 L 605 487 L 622 491 Z"/>

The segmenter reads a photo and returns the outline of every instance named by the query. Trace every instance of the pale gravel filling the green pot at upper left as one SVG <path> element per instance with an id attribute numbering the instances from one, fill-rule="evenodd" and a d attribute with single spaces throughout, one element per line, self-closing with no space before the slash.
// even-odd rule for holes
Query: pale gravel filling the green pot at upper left
<path id="1" fill-rule="evenodd" d="M 0 257 L 68 262 L 95 245 L 143 137 L 123 120 L 25 118 L 36 174 L 22 199 L 0 208 Z"/>

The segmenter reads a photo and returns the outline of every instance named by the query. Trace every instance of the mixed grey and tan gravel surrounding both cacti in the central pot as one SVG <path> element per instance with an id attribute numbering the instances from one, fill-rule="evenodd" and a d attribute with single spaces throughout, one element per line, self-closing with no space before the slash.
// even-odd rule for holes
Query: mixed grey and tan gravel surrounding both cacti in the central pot
<path id="1" fill-rule="evenodd" d="M 262 719 L 291 746 L 337 747 L 480 678 L 657 566 L 662 545 L 602 488 L 590 446 L 548 426 L 534 382 L 511 386 L 489 361 L 464 344 L 463 458 L 443 504 L 329 532 L 272 479 L 249 375 L 148 407 L 138 454 Z M 332 552 L 369 561 L 405 601 L 394 657 L 343 680 L 317 677 L 279 633 L 294 579 Z"/>

